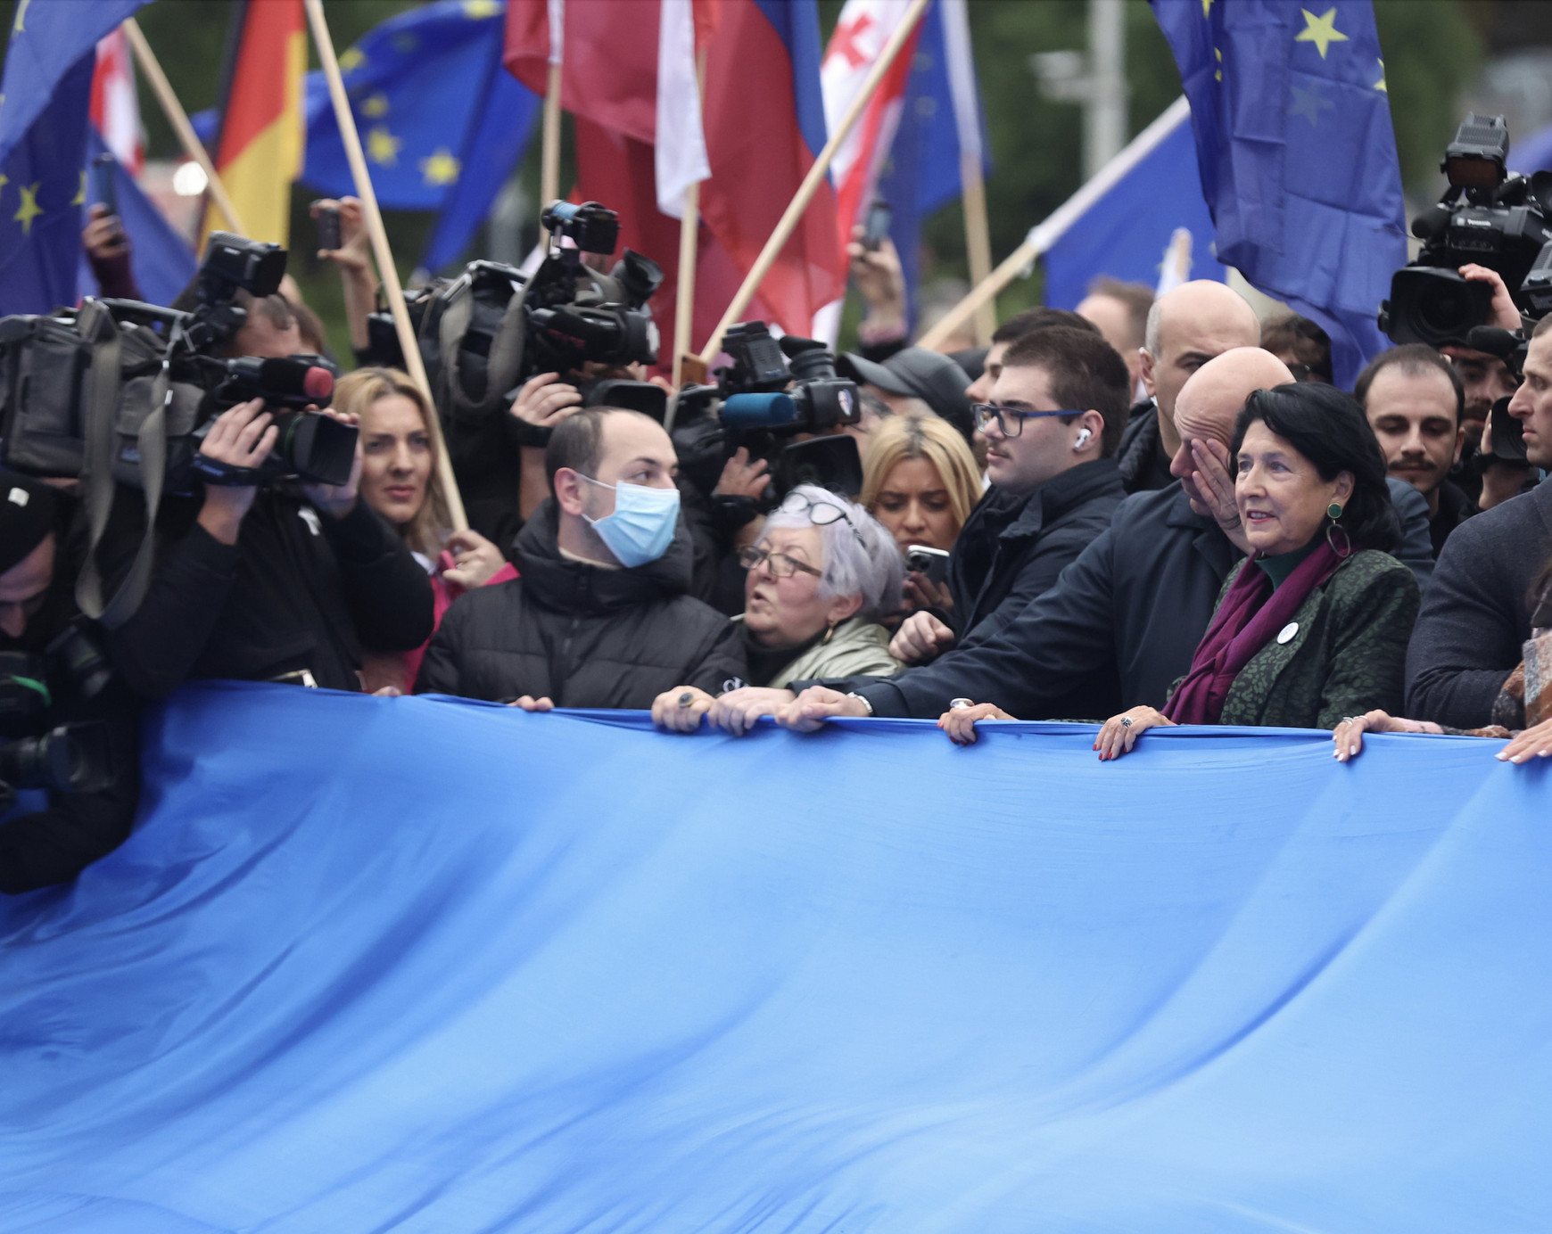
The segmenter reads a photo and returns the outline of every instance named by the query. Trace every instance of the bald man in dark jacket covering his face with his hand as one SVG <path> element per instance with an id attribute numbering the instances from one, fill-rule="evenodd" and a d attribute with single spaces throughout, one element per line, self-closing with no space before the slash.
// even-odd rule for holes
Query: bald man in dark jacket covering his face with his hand
<path id="1" fill-rule="evenodd" d="M 1105 719 L 1138 703 L 1162 708 L 1207 630 L 1229 570 L 1243 556 L 1228 447 L 1254 390 L 1293 380 L 1260 348 L 1226 348 L 1175 391 L 1184 438 L 1167 489 L 1121 503 L 1116 517 L 1057 581 L 990 638 L 973 633 L 931 664 L 889 678 L 812 685 L 776 712 L 816 728 L 832 716 L 937 717 L 953 698 L 996 703 L 1021 720 Z M 1409 484 L 1400 487 L 1419 497 Z M 1412 553 L 1431 567 L 1426 512 Z M 1401 551 L 1397 551 L 1401 556 Z M 1401 556 L 1414 570 L 1417 563 Z M 796 683 L 799 688 L 810 683 Z"/>

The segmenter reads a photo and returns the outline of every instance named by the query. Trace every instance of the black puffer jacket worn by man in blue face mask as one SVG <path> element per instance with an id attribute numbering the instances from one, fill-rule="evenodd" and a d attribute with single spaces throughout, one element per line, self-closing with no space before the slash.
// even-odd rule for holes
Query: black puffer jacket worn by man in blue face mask
<path id="1" fill-rule="evenodd" d="M 743 677 L 737 627 L 689 594 L 694 549 L 683 523 L 663 557 L 635 570 L 566 560 L 556 523 L 551 498 L 518 532 L 521 577 L 469 591 L 447 610 L 417 692 L 650 708 L 674 686 L 715 694 Z"/>

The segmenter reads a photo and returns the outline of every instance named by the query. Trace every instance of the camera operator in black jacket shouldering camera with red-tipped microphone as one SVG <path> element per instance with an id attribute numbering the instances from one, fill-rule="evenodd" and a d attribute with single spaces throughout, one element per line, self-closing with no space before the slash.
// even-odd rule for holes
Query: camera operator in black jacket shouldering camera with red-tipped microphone
<path id="1" fill-rule="evenodd" d="M 258 467 L 276 430 L 259 399 L 223 411 L 200 453 Z M 359 691 L 362 652 L 431 636 L 431 584 L 399 534 L 357 500 L 360 447 L 338 486 L 208 486 L 169 497 L 157 518 L 144 601 L 112 632 L 113 663 L 147 698 L 192 678 L 231 677 Z M 109 588 L 144 534 L 143 495 L 120 486 L 98 562 Z"/>

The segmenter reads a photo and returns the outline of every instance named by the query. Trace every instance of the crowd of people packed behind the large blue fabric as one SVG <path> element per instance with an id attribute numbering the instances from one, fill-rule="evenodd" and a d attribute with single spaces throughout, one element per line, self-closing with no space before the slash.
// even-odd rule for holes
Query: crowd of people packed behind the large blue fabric
<path id="1" fill-rule="evenodd" d="M 338 205 L 323 256 L 363 360 L 371 264 Z M 101 224 L 85 242 L 112 284 Z M 16 795 L 0 891 L 68 880 L 129 834 L 140 709 L 202 678 L 633 708 L 669 733 L 889 716 L 972 745 L 987 720 L 1082 720 L 1102 761 L 1180 723 L 1322 728 L 1338 761 L 1369 733 L 1552 754 L 1552 317 L 1523 321 L 1491 270 L 1462 275 L 1526 329 L 1521 373 L 1409 345 L 1346 393 L 1319 326 L 1262 321 L 1226 284 L 1100 279 L 1076 312 L 944 354 L 909 345 L 888 242 L 852 261 L 868 315 L 838 368 L 863 414 L 837 432 L 857 492 L 778 492 L 747 447 L 703 492 L 678 432 L 584 405 L 587 380 L 644 374 L 540 373 L 481 477 L 504 486 L 497 514 L 455 531 L 438 408 L 371 363 L 327 410 L 360 432 L 343 484 L 210 484 L 154 514 L 120 486 L 88 537 L 71 478 L 0 475 L 0 657 L 37 686 L 28 731 L 112 737 L 107 787 Z M 245 309 L 228 354 L 324 349 L 295 295 Z M 1493 439 L 1510 421 L 1523 449 Z M 255 399 L 199 450 L 241 475 L 276 432 Z M 140 576 L 144 598 L 85 621 L 82 571 Z"/>

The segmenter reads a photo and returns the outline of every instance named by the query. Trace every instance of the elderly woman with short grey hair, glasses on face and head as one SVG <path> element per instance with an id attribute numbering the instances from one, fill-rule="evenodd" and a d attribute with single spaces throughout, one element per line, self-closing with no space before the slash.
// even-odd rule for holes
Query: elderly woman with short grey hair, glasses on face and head
<path id="1" fill-rule="evenodd" d="M 760 539 L 739 554 L 745 653 L 756 683 L 714 698 L 678 686 L 652 705 L 652 719 L 691 733 L 702 716 L 742 734 L 812 677 L 888 677 L 889 632 L 878 618 L 900 607 L 903 565 L 894 537 L 864 511 L 815 484 L 799 484 L 765 518 Z"/>

